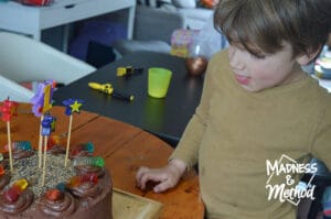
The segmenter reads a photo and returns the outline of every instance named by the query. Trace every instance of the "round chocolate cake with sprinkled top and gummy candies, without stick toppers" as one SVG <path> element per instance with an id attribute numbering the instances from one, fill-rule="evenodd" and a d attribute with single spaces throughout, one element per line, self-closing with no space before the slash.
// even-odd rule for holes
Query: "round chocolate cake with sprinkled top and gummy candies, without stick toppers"
<path id="1" fill-rule="evenodd" d="M 65 155 L 50 150 L 45 183 L 41 185 L 38 153 L 19 149 L 13 151 L 13 157 L 12 173 L 7 156 L 1 162 L 4 171 L 0 175 L 1 219 L 113 218 L 111 177 L 103 166 L 75 163 L 75 158 L 85 157 L 78 156 L 64 167 Z"/>

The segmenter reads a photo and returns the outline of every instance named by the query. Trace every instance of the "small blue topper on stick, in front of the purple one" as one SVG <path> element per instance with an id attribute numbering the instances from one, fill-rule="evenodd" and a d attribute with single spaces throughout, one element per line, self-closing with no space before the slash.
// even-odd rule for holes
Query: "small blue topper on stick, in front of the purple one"
<path id="1" fill-rule="evenodd" d="M 43 176 L 42 176 L 42 185 L 45 184 L 45 174 L 46 174 L 46 157 L 47 157 L 47 142 L 49 136 L 51 135 L 51 132 L 54 131 L 56 119 L 54 117 L 51 117 L 49 113 L 44 116 L 44 119 L 42 120 L 42 131 L 41 134 L 44 136 L 44 158 L 43 158 Z"/>

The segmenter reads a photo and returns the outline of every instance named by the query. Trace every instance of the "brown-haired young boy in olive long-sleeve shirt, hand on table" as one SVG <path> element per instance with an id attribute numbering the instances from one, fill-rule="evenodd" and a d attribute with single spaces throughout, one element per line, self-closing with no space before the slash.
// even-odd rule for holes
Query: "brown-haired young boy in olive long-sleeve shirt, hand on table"
<path id="1" fill-rule="evenodd" d="M 330 13 L 330 0 L 221 0 L 214 23 L 231 45 L 210 61 L 169 164 L 141 167 L 138 186 L 164 191 L 199 163 L 207 218 L 295 219 L 295 197 L 313 198 L 296 187 L 310 158 L 331 166 L 331 96 L 300 67 L 327 42 Z"/>

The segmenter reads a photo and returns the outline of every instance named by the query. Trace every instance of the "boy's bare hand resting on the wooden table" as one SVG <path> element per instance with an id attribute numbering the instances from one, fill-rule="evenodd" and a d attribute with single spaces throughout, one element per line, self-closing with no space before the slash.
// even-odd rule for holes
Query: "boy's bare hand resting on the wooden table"
<path id="1" fill-rule="evenodd" d="M 186 164 L 180 160 L 171 160 L 162 168 L 148 168 L 142 166 L 136 175 L 137 186 L 146 189 L 148 182 L 158 182 L 153 187 L 154 193 L 162 193 L 168 188 L 174 187 L 186 169 Z"/>

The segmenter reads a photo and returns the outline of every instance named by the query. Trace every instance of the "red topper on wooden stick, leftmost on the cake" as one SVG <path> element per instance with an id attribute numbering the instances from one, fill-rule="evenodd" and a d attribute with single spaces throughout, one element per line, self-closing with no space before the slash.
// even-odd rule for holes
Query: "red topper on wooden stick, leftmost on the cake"
<path id="1" fill-rule="evenodd" d="M 10 120 L 12 117 L 18 116 L 18 102 L 10 101 L 9 98 L 3 101 L 3 105 L 0 107 L 1 110 L 1 119 L 2 121 L 7 122 L 7 138 L 8 138 L 8 151 L 9 151 L 9 163 L 10 163 L 10 171 L 13 171 L 12 164 L 12 153 L 11 153 L 11 133 L 10 133 Z"/>

